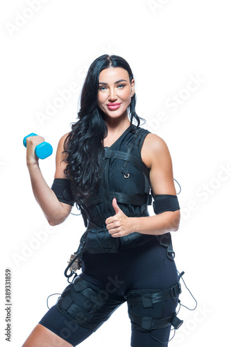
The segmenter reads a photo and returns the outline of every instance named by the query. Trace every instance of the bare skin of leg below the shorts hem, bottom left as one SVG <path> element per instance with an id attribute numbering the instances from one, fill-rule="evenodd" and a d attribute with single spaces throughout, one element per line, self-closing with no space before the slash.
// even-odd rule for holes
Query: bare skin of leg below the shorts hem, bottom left
<path id="1" fill-rule="evenodd" d="M 73 347 L 51 330 L 37 324 L 22 347 Z"/>

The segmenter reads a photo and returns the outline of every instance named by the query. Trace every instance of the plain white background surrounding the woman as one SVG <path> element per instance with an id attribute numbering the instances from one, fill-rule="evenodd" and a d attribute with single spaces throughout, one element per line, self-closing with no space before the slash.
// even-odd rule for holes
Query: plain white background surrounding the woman
<path id="1" fill-rule="evenodd" d="M 33 197 L 22 139 L 34 132 L 57 148 L 76 121 L 85 73 L 104 53 L 130 63 L 137 113 L 147 121 L 144 128 L 169 146 L 174 177 L 182 187 L 182 223 L 173 233 L 173 246 L 198 309 L 182 307 L 179 317 L 185 323 L 169 346 L 226 346 L 230 1 L 14 0 L 1 2 L 0 11 L 1 346 L 22 346 L 47 310 L 46 297 L 67 286 L 63 272 L 84 231 L 81 217 L 73 215 L 60 226 L 49 226 Z M 189 83 L 193 80 L 197 83 Z M 76 91 L 69 100 L 56 99 L 70 85 Z M 173 108 L 170 102 L 176 97 Z M 40 160 L 40 168 L 51 185 L 55 153 Z M 10 343 L 4 337 L 6 268 L 12 270 Z M 182 303 L 194 307 L 182 289 Z M 118 345 L 130 346 L 126 304 L 81 344 Z"/>

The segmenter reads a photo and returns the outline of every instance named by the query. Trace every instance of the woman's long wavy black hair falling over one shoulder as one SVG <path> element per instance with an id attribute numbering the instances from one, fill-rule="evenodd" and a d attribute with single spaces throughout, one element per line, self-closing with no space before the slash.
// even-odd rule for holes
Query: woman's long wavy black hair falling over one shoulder
<path id="1" fill-rule="evenodd" d="M 71 180 L 74 194 L 87 197 L 96 192 L 101 180 L 101 158 L 103 139 L 108 129 L 104 113 L 97 104 L 99 92 L 99 74 L 108 67 L 122 67 L 128 71 L 130 83 L 133 78 L 128 62 L 119 56 L 100 56 L 90 65 L 80 96 L 78 121 L 71 124 L 71 132 L 65 139 L 67 168 L 66 176 Z M 139 126 L 140 119 L 135 112 L 136 96 L 132 96 L 128 107 L 130 123 L 135 119 Z"/>

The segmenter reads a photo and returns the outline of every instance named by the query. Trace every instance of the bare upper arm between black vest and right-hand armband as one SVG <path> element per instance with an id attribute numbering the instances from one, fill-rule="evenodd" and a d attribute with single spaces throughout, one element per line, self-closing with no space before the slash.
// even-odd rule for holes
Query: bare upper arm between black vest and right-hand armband
<path id="1" fill-rule="evenodd" d="M 176 195 L 171 155 L 161 137 L 154 134 L 146 136 L 142 147 L 142 160 L 150 168 L 153 194 Z"/>

